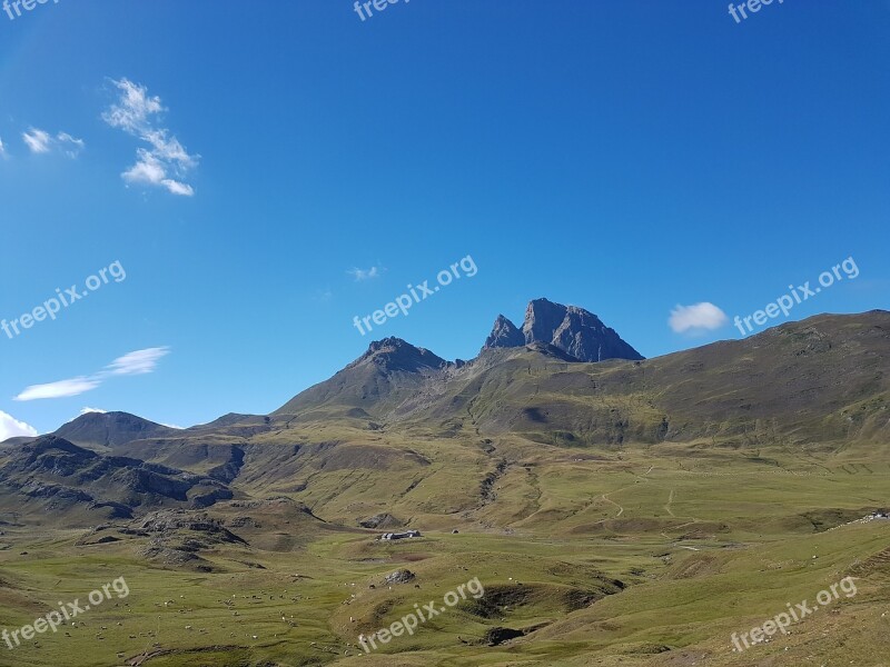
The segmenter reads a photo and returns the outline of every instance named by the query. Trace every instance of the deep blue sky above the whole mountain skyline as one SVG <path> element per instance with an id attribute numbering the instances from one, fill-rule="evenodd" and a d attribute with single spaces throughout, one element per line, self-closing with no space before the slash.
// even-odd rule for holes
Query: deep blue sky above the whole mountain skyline
<path id="1" fill-rule="evenodd" d="M 889 30 L 888 0 L 0 12 L 0 318 L 126 273 L 0 331 L 0 428 L 264 414 L 372 339 L 472 358 L 538 297 L 647 357 L 739 338 L 849 257 L 789 318 L 888 308 Z M 669 327 L 702 302 L 730 321 Z"/>

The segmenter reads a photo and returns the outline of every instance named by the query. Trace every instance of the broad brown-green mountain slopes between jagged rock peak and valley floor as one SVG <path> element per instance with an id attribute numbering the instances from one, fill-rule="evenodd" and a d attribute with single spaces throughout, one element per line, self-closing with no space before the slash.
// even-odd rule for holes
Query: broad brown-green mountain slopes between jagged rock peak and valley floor
<path id="1" fill-rule="evenodd" d="M 503 461 L 534 471 L 652 447 L 684 457 L 741 452 L 754 461 L 769 460 L 761 458 L 769 450 L 803 459 L 840 450 L 880 456 L 890 440 L 888 367 L 887 311 L 815 316 L 645 360 L 580 362 L 535 342 L 485 349 L 458 365 L 390 338 L 268 416 L 229 415 L 218 428 L 171 437 L 130 430 L 128 437 L 142 439 L 129 442 L 117 434 L 110 452 L 92 444 L 82 467 L 95 470 L 117 457 L 128 471 L 111 481 L 139 478 L 131 469 L 145 464 L 170 470 L 159 472 L 165 478 L 205 479 L 198 497 L 224 489 L 284 495 L 347 525 L 380 512 L 419 512 L 436 524 L 484 507 L 492 491 L 485 480 L 505 474 Z M 85 418 L 96 421 L 78 420 Z M 77 426 L 69 429 L 87 432 Z M 22 447 L 0 449 L 0 472 Z M 21 488 L 26 478 L 13 477 Z M 43 487 L 71 486 L 41 479 Z M 16 488 L 8 488 L 7 507 L 18 502 Z M 113 488 L 111 499 L 127 497 Z M 434 488 L 444 495 L 428 496 Z M 90 496 L 90 502 L 106 497 Z M 39 507 L 34 499 L 29 505 Z"/>

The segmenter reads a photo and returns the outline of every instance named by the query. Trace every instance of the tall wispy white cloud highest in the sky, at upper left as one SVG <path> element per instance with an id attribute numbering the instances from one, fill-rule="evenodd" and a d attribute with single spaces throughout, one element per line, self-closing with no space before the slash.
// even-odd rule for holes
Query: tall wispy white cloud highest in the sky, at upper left
<path id="1" fill-rule="evenodd" d="M 181 179 L 198 165 L 199 156 L 189 155 L 168 129 L 158 127 L 158 117 L 167 110 L 160 98 L 149 96 L 148 88 L 129 79 L 112 83 L 120 91 L 120 97 L 102 113 L 102 120 L 150 146 L 136 150 L 136 163 L 121 173 L 123 180 L 162 187 L 172 195 L 191 197 L 194 188 Z"/>

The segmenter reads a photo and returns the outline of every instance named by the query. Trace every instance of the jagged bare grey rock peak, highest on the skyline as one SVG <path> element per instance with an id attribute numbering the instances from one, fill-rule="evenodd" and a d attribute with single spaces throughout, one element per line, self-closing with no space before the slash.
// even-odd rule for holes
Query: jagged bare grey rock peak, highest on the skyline
<path id="1" fill-rule="evenodd" d="M 592 312 L 547 299 L 535 299 L 528 303 L 522 330 L 500 315 L 483 349 L 536 342 L 550 344 L 581 361 L 643 359 L 640 352 Z"/>

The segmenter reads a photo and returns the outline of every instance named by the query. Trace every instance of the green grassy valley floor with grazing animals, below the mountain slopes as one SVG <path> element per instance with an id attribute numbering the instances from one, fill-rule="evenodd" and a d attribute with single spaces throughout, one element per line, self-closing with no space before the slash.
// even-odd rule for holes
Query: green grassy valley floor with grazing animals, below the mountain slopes
<path id="1" fill-rule="evenodd" d="M 0 666 L 890 665 L 890 519 L 858 520 L 887 508 L 888 480 L 890 461 L 851 451 L 567 455 L 503 467 L 473 511 L 418 508 L 409 525 L 423 536 L 389 542 L 375 539 L 383 529 L 250 504 L 207 510 L 246 544 L 200 527 L 159 537 L 6 514 L 3 628 L 120 577 L 129 595 L 0 644 Z M 170 559 L 165 539 L 197 558 Z M 403 569 L 414 578 L 385 580 Z M 733 634 L 847 577 L 854 595 L 734 648 Z M 485 595 L 445 608 L 475 578 Z M 431 601 L 445 610 L 412 635 L 359 646 Z"/>

